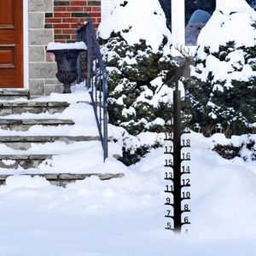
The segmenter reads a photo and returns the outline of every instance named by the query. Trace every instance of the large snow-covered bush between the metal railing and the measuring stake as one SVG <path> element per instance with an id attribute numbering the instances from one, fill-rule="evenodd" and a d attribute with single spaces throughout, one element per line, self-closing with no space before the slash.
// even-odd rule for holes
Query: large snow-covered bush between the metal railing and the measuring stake
<path id="1" fill-rule="evenodd" d="M 99 38 L 108 70 L 109 122 L 132 135 L 166 131 L 172 88 L 164 84 L 165 71 L 174 63 L 159 1 L 118 1 Z"/>

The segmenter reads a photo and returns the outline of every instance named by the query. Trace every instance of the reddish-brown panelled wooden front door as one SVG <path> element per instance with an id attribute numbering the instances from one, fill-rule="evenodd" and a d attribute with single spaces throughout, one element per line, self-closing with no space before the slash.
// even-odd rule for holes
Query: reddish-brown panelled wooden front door
<path id="1" fill-rule="evenodd" d="M 23 0 L 0 0 L 0 88 L 23 87 Z"/>

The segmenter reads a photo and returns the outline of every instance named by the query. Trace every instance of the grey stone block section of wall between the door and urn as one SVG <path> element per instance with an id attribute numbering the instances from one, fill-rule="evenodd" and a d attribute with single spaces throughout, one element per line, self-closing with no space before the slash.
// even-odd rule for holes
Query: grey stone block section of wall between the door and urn
<path id="1" fill-rule="evenodd" d="M 53 3 L 53 0 L 28 0 L 29 90 L 32 97 L 63 90 L 55 79 L 54 57 L 45 53 L 47 44 L 54 41 L 53 29 L 44 28 L 45 14 L 53 11 Z"/>

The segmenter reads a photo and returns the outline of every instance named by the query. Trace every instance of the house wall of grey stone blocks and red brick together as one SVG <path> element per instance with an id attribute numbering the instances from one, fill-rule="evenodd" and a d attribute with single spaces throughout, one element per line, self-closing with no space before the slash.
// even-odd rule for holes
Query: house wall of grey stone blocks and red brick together
<path id="1" fill-rule="evenodd" d="M 25 0 L 28 13 L 28 88 L 32 97 L 62 92 L 55 79 L 56 63 L 45 49 L 49 42 L 73 42 L 77 23 L 90 13 L 96 26 L 101 21 L 101 0 Z M 25 45 L 26 47 L 26 45 Z"/>

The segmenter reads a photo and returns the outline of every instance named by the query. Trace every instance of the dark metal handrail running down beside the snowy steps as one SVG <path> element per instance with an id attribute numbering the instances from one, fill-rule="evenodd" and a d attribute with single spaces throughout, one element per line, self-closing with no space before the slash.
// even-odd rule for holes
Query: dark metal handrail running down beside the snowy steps
<path id="1" fill-rule="evenodd" d="M 86 79 L 86 86 L 90 92 L 96 124 L 102 141 L 105 161 L 108 158 L 108 79 L 100 46 L 96 39 L 95 27 L 90 15 L 86 17 L 84 26 L 78 25 L 77 41 L 82 41 L 87 46 L 86 54 L 79 56 L 78 83 Z"/>

